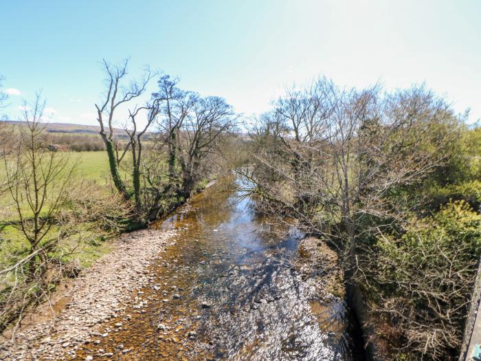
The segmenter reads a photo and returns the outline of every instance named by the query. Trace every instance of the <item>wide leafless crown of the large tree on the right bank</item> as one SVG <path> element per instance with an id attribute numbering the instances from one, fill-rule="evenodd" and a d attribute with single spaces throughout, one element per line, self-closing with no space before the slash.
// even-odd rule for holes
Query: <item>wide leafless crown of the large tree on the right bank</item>
<path id="1" fill-rule="evenodd" d="M 399 216 L 385 203 L 390 190 L 418 182 L 438 164 L 440 156 L 423 144 L 429 123 L 449 113 L 423 89 L 381 100 L 378 87 L 342 90 L 321 79 L 302 97 L 288 93 L 258 127 L 253 139 L 269 133 L 273 146 L 253 154 L 251 177 L 313 232 L 332 236 L 335 228 L 342 234 L 337 247 L 348 250 L 366 215 Z M 265 182 L 266 171 L 274 183 Z M 284 197 L 279 187 L 287 187 Z"/>

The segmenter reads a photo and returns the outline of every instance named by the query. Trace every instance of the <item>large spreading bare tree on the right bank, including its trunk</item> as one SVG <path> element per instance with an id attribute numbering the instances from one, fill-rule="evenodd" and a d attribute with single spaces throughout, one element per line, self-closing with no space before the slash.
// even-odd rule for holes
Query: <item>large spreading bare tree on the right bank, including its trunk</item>
<path id="1" fill-rule="evenodd" d="M 337 248 L 357 297 L 359 254 L 421 207 L 413 190 L 447 160 L 451 124 L 449 105 L 422 86 L 384 95 L 377 86 L 339 89 L 321 79 L 288 91 L 260 118 L 241 173 L 262 210 L 296 219 Z"/>

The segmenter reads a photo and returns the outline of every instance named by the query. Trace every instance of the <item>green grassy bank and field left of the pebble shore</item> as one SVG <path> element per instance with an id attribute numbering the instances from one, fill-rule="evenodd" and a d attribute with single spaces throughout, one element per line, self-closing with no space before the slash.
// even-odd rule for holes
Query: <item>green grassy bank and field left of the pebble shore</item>
<path id="1" fill-rule="evenodd" d="M 10 166 L 14 166 L 15 160 L 7 157 L 7 166 L 3 163 L 0 167 L 3 184 L 0 193 L 0 270 L 6 270 L 0 280 L 0 331 L 19 313 L 42 302 L 63 277 L 76 276 L 110 252 L 111 244 L 107 240 L 122 232 L 129 223 L 130 206 L 113 190 L 105 152 L 58 152 L 56 157 L 65 160 L 65 168 L 49 186 L 45 207 L 39 215 L 43 219 L 41 222 L 54 217 L 45 223 L 45 235 L 36 248 L 40 253 L 34 256 L 35 269 L 48 270 L 42 274 L 31 274 L 30 261 L 25 261 L 25 257 L 32 254 L 32 243 L 27 241 L 22 227 L 32 224 L 34 218 L 29 199 L 25 197 L 27 193 L 20 190 L 17 204 L 8 189 L 7 172 L 10 171 L 12 179 L 14 173 L 11 173 Z M 124 162 L 128 162 L 128 155 Z M 122 168 L 121 175 L 128 184 L 130 175 Z M 61 206 L 54 213 L 49 212 L 61 192 L 58 184 L 63 182 L 67 183 Z M 16 192 L 15 188 L 12 190 Z M 21 209 L 23 222 L 17 206 Z"/>

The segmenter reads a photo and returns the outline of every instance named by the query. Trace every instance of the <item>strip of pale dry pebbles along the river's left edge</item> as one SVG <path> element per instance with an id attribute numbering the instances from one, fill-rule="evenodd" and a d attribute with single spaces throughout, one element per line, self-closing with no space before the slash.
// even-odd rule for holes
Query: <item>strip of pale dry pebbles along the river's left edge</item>
<path id="1" fill-rule="evenodd" d="M 146 301 L 142 300 L 146 295 L 142 289 L 154 286 L 155 275 L 144 270 L 166 246 L 175 244 L 168 241 L 173 234 L 175 231 L 142 230 L 133 237 L 121 236 L 115 243 L 114 252 L 102 256 L 89 269 L 82 271 L 79 282 L 74 286 L 73 298 L 69 300 L 68 307 L 60 310 L 55 324 L 47 320 L 38 327 L 27 328 L 25 333 L 19 332 L 18 342 L 0 349 L 0 360 L 67 360 L 76 358 L 74 349 L 85 347 L 83 344 L 92 342 L 92 346 L 100 345 L 102 338 L 122 327 L 122 322 L 116 322 L 115 328 L 106 330 L 108 322 L 118 318 L 126 324 L 127 320 L 131 320 L 131 315 L 123 314 L 126 310 L 123 305 L 138 306 L 135 309 L 146 307 Z M 137 241 L 132 241 L 133 238 Z M 157 290 L 160 286 L 160 283 L 155 284 Z M 122 292 L 118 292 L 119 289 Z M 132 302 L 131 292 L 139 297 L 135 303 Z M 61 336 L 49 336 L 52 327 Z M 102 327 L 101 332 L 104 332 L 99 333 L 98 329 L 94 332 L 94 327 Z M 91 340 L 90 337 L 97 339 Z M 122 353 L 131 350 L 123 349 Z M 96 355 L 84 353 L 82 359 L 111 358 L 115 354 L 98 351 Z"/>

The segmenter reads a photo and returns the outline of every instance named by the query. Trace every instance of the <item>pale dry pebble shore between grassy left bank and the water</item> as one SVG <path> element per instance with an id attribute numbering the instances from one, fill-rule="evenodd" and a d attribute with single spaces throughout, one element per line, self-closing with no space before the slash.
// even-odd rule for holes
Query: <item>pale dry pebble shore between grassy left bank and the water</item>
<path id="1" fill-rule="evenodd" d="M 61 285 L 53 303 L 38 307 L 23 320 L 9 340 L 2 336 L 1 360 L 64 360 L 75 358 L 79 344 L 107 337 L 91 330 L 102 322 L 125 318 L 124 309 L 135 302 L 136 289 L 148 284 L 148 265 L 175 244 L 175 230 L 139 230 L 122 234 L 105 254 L 71 284 Z M 123 321 L 125 322 L 125 321 Z"/>

